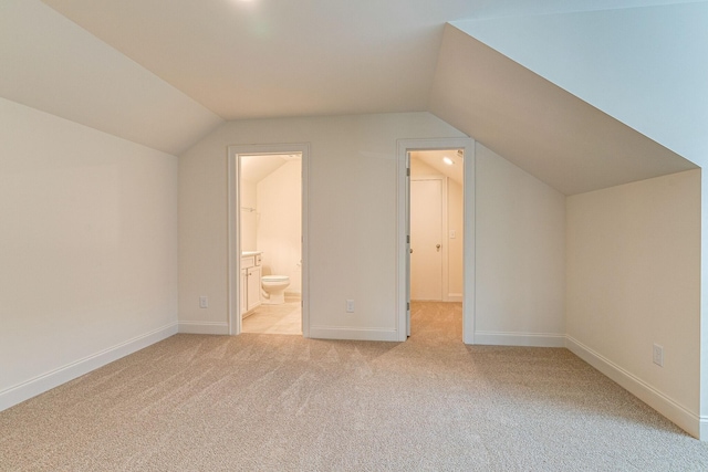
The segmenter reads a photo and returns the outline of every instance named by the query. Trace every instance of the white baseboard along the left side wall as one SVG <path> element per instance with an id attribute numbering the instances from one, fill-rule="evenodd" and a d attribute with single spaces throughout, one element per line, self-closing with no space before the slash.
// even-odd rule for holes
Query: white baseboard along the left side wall
<path id="1" fill-rule="evenodd" d="M 136 336 L 124 343 L 104 349 L 100 353 L 79 359 L 74 363 L 62 366 L 58 369 L 34 377 L 22 384 L 18 384 L 0 391 L 0 411 L 8 409 L 14 405 L 29 400 L 40 394 L 59 387 L 70 380 L 88 374 L 92 370 L 111 364 L 114 360 L 125 357 L 129 354 L 144 349 L 145 347 L 166 339 L 177 334 L 177 323 L 154 329 L 140 336 Z"/>

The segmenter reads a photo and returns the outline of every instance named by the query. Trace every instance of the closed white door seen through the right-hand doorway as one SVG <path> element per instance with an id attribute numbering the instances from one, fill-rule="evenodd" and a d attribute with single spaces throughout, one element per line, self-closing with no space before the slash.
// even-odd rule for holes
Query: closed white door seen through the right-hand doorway
<path id="1" fill-rule="evenodd" d="M 442 301 L 442 181 L 410 180 L 410 300 Z"/>

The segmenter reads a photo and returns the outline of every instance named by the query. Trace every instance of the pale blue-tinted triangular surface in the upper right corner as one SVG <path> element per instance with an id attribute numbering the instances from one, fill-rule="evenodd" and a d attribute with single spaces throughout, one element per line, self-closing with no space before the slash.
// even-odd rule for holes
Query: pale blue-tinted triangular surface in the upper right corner
<path id="1" fill-rule="evenodd" d="M 452 24 L 663 146 L 708 164 L 708 1 Z"/>

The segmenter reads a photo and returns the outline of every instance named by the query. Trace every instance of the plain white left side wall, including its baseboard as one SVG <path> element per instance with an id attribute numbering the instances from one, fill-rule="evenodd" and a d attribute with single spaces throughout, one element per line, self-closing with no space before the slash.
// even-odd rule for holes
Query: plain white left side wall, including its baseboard
<path id="1" fill-rule="evenodd" d="M 0 409 L 176 332 L 177 170 L 0 98 Z"/>

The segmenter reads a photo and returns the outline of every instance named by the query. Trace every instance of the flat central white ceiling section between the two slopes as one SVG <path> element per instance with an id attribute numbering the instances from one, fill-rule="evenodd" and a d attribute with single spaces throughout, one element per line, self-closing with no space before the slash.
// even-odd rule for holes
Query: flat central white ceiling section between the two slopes
<path id="1" fill-rule="evenodd" d="M 44 0 L 225 119 L 426 111 L 452 20 L 680 0 Z"/>

